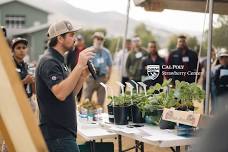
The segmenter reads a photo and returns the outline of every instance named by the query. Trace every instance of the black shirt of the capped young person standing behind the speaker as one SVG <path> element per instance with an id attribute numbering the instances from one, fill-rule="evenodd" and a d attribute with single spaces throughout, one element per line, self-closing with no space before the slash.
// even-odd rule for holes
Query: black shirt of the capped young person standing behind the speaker
<path id="1" fill-rule="evenodd" d="M 19 74 L 20 79 L 23 80 L 28 75 L 28 64 L 24 61 L 18 63 L 15 58 L 13 59 L 16 65 L 16 71 Z M 24 88 L 28 98 L 30 98 L 32 96 L 32 86 L 30 84 L 24 84 Z"/>

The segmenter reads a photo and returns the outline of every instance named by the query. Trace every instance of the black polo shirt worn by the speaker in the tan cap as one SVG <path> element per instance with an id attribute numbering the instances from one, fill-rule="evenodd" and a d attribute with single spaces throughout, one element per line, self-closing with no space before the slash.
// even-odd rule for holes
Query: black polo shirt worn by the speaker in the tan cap
<path id="1" fill-rule="evenodd" d="M 76 105 L 73 92 L 59 101 L 52 86 L 69 74 L 64 57 L 53 48 L 42 56 L 36 69 L 36 91 L 40 109 L 40 128 L 46 140 L 76 137 Z"/>

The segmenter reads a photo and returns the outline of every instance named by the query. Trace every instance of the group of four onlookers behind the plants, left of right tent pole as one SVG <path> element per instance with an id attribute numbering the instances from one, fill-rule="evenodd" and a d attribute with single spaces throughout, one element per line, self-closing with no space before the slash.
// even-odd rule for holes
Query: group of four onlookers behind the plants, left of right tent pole
<path id="1" fill-rule="evenodd" d="M 147 48 L 140 46 L 138 36 L 127 40 L 126 44 L 125 55 L 121 50 L 116 56 L 116 64 L 126 80 L 142 81 L 149 88 L 156 83 L 162 84 L 164 79 L 169 78 L 173 84 L 175 80 L 193 83 L 195 77 L 200 75 L 201 69 L 197 70 L 198 55 L 188 48 L 184 35 L 177 38 L 177 48 L 171 50 L 167 59 L 159 55 L 158 44 L 154 40 L 148 43 Z"/>

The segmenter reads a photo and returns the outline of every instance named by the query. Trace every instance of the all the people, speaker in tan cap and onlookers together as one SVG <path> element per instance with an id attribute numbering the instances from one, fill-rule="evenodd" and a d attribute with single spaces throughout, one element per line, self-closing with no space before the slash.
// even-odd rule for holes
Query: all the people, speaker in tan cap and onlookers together
<path id="1" fill-rule="evenodd" d="M 1 27 L 7 37 L 7 31 Z M 9 44 L 15 68 L 24 85 L 31 107 L 35 106 L 31 97 L 36 94 L 40 111 L 40 128 L 50 151 L 56 151 L 62 146 L 69 151 L 79 151 L 76 139 L 75 96 L 80 101 L 82 95 L 91 100 L 97 92 L 97 102 L 105 103 L 105 89 L 100 82 L 107 83 L 112 73 L 113 61 L 110 51 L 104 47 L 105 35 L 95 32 L 92 36 L 92 46 L 85 45 L 83 35 L 69 21 L 52 24 L 48 30 L 48 50 L 42 55 L 36 74 L 29 72 L 28 63 L 24 58 L 28 53 L 28 41 L 21 37 L 14 38 Z M 141 46 L 139 36 L 126 39 L 125 48 L 120 50 L 114 59 L 121 74 L 121 82 L 143 82 L 147 88 L 156 83 L 162 84 L 164 79 L 172 79 L 189 83 L 198 83 L 203 79 L 206 84 L 206 60 L 199 64 L 196 51 L 188 47 L 187 37 L 177 38 L 176 48 L 170 51 L 168 58 L 159 55 L 158 44 L 151 40 L 147 48 Z M 223 96 L 228 94 L 228 50 L 212 49 L 211 94 L 212 112 L 215 107 L 227 108 Z M 95 80 L 87 69 L 90 60 L 96 70 Z M 86 83 L 84 87 L 83 84 Z M 134 86 L 135 84 L 132 83 Z M 221 100 L 223 99 L 223 100 Z M 56 140 L 60 139 L 60 140 Z M 65 152 L 68 149 L 64 149 Z"/>

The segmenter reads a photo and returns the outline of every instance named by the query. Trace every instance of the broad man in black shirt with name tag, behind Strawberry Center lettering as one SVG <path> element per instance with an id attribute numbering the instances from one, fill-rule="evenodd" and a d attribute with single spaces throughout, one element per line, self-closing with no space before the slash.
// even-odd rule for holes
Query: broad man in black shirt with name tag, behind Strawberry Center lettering
<path id="1" fill-rule="evenodd" d="M 199 77 L 200 70 L 197 71 L 197 64 L 197 53 L 188 47 L 186 36 L 180 35 L 177 38 L 177 48 L 171 51 L 168 57 L 166 70 L 170 74 L 166 77 L 172 78 L 173 84 L 175 80 L 193 83 L 196 77 Z"/>

